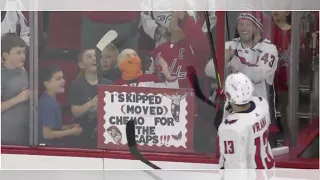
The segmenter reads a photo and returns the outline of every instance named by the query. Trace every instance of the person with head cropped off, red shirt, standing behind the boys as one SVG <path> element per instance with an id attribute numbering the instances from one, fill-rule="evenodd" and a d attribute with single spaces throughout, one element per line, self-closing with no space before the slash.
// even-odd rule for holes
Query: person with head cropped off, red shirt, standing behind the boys
<path id="1" fill-rule="evenodd" d="M 81 26 L 81 47 L 95 47 L 109 30 L 115 30 L 118 38 L 114 41 L 119 51 L 129 48 L 136 50 L 138 43 L 139 11 L 84 11 Z"/>

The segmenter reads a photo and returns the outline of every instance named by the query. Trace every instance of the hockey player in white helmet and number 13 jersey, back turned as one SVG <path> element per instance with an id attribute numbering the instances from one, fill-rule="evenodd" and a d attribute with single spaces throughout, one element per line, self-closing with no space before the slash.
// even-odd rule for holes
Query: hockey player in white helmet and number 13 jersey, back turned
<path id="1" fill-rule="evenodd" d="M 224 91 L 230 107 L 218 129 L 221 168 L 272 169 L 268 102 L 253 96 L 254 86 L 243 73 L 229 75 Z"/>

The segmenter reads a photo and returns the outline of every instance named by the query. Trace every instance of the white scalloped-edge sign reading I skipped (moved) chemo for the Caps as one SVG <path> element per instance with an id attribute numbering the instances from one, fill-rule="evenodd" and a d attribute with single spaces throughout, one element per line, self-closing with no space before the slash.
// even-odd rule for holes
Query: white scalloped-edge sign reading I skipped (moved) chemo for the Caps
<path id="1" fill-rule="evenodd" d="M 136 124 L 140 145 L 186 147 L 186 95 L 105 92 L 105 143 L 126 144 L 125 126 Z"/>

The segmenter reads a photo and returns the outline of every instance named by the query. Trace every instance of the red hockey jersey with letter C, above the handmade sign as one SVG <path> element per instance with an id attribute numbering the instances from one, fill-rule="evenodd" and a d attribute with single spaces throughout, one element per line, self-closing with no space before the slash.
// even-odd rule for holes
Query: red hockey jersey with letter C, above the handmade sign
<path id="1" fill-rule="evenodd" d="M 197 71 L 198 78 L 204 77 L 204 68 L 208 62 L 209 41 L 202 32 L 201 26 L 195 24 L 192 18 L 187 18 L 184 24 L 179 25 L 185 33 L 185 39 L 171 44 L 163 43 L 153 50 L 153 58 L 160 53 L 167 62 L 171 75 L 178 77 L 179 88 L 192 88 L 188 76 L 188 67 Z"/>

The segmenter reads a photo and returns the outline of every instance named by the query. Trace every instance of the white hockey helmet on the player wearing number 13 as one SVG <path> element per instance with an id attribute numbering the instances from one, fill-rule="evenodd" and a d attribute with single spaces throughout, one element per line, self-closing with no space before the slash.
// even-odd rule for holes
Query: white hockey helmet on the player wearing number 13
<path id="1" fill-rule="evenodd" d="M 227 100 L 236 105 L 247 104 L 254 91 L 251 80 L 243 73 L 230 74 L 225 82 Z"/>

